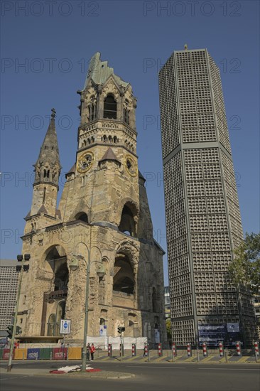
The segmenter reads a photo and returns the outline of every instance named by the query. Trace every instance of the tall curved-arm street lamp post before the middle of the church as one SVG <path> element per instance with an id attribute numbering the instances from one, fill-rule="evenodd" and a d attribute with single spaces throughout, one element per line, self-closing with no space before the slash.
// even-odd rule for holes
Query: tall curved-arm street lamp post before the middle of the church
<path id="1" fill-rule="evenodd" d="M 97 270 L 97 275 L 101 278 L 105 274 L 104 265 L 100 261 L 91 261 L 87 264 L 86 259 L 81 255 L 75 255 L 77 258 L 84 259 L 87 265 L 87 279 L 86 279 L 86 294 L 85 294 L 85 322 L 84 322 L 84 341 L 83 341 L 83 350 L 82 350 L 82 372 L 86 371 L 87 368 L 87 323 L 89 317 L 89 291 L 90 291 L 90 266 L 92 263 L 98 263 L 99 268 Z"/>

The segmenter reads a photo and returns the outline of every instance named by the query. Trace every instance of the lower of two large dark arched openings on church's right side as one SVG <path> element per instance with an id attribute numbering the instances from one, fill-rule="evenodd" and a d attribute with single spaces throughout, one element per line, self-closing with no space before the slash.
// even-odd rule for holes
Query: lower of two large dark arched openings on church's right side
<path id="1" fill-rule="evenodd" d="M 113 291 L 134 294 L 134 272 L 127 255 L 117 255 L 114 262 Z"/>

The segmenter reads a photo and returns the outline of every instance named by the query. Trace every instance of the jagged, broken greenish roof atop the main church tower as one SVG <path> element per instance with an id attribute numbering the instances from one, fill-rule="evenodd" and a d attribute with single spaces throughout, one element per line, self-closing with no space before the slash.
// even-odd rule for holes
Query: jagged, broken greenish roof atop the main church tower
<path id="1" fill-rule="evenodd" d="M 104 82 L 106 82 L 111 75 L 114 76 L 114 79 L 117 81 L 118 85 L 123 85 L 124 87 L 129 85 L 128 82 L 125 82 L 121 79 L 121 77 L 114 74 L 114 69 L 108 66 L 107 61 L 101 60 L 99 52 L 95 53 L 90 60 L 90 67 L 87 72 L 83 90 L 85 90 L 87 87 L 90 79 L 92 79 L 96 84 L 104 84 Z"/>

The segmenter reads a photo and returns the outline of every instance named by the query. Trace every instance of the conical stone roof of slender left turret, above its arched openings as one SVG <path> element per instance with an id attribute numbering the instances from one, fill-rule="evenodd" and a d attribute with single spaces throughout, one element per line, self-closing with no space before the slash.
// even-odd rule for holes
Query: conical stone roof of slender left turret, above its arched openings
<path id="1" fill-rule="evenodd" d="M 38 156 L 38 162 L 40 163 L 49 163 L 50 165 L 58 164 L 60 166 L 60 155 L 58 148 L 58 139 L 57 133 L 55 130 L 55 109 L 52 109 L 52 114 L 50 117 L 50 124 L 48 130 L 45 134 L 43 144 L 40 147 L 40 154 Z"/>

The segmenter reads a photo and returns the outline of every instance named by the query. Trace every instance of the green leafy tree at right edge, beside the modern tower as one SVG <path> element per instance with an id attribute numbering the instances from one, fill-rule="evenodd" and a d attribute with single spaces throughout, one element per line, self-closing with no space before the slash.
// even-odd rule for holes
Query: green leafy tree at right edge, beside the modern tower
<path id="1" fill-rule="evenodd" d="M 234 261 L 229 272 L 235 285 L 242 284 L 254 294 L 260 289 L 260 233 L 246 233 L 246 237 L 234 250 Z"/>

